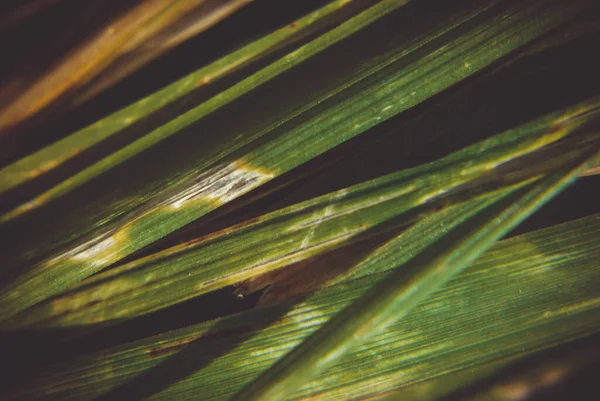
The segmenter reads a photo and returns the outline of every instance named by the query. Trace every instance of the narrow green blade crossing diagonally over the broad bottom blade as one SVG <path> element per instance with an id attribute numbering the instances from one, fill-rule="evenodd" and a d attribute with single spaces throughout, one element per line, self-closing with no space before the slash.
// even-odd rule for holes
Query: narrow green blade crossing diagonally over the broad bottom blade
<path id="1" fill-rule="evenodd" d="M 383 333 L 419 303 L 466 268 L 493 242 L 500 239 L 546 201 L 572 183 L 577 175 L 598 162 L 580 160 L 575 168 L 551 174 L 459 227 L 451 241 L 417 255 L 402 269 L 374 286 L 300 346 L 274 364 L 234 398 L 281 400 L 298 390 L 341 357 L 369 338 Z M 589 156 L 588 156 L 589 158 Z M 467 226 L 463 231 L 463 226 Z"/>

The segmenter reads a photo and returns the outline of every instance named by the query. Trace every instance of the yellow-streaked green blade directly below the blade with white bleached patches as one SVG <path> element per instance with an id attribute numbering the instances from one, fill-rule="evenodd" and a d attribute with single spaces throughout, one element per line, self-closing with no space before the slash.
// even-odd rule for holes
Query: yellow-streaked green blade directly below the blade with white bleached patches
<path id="1" fill-rule="evenodd" d="M 531 172 L 525 169 L 517 173 L 520 167 L 517 171 L 502 172 L 502 169 L 509 162 L 514 163 L 568 138 L 584 123 L 594 121 L 597 113 L 597 101 L 590 101 L 429 165 L 303 202 L 262 216 L 250 224 L 167 249 L 96 275 L 64 296 L 6 320 L 57 292 L 57 283 L 77 281 L 80 276 L 72 275 L 80 274 L 78 266 L 82 266 L 85 259 L 89 259 L 88 263 L 102 263 L 102 258 L 110 255 L 112 244 L 111 238 L 105 239 L 92 251 L 51 260 L 43 265 L 41 272 L 23 274 L 12 286 L 6 287 L 0 294 L 0 316 L 5 320 L 2 327 L 90 324 L 148 313 L 309 258 L 360 238 L 359 235 L 372 235 L 381 229 L 378 225 L 405 213 L 422 213 L 435 207 L 435 202 L 447 199 L 448 194 L 465 187 L 504 180 L 503 175 L 508 172 L 521 174 L 519 180 L 529 179 L 544 169 L 556 168 L 555 163 L 571 163 L 573 157 L 578 157 L 577 153 L 561 152 L 564 154 L 548 162 L 527 167 Z M 545 163 L 550 164 L 544 167 Z"/>

